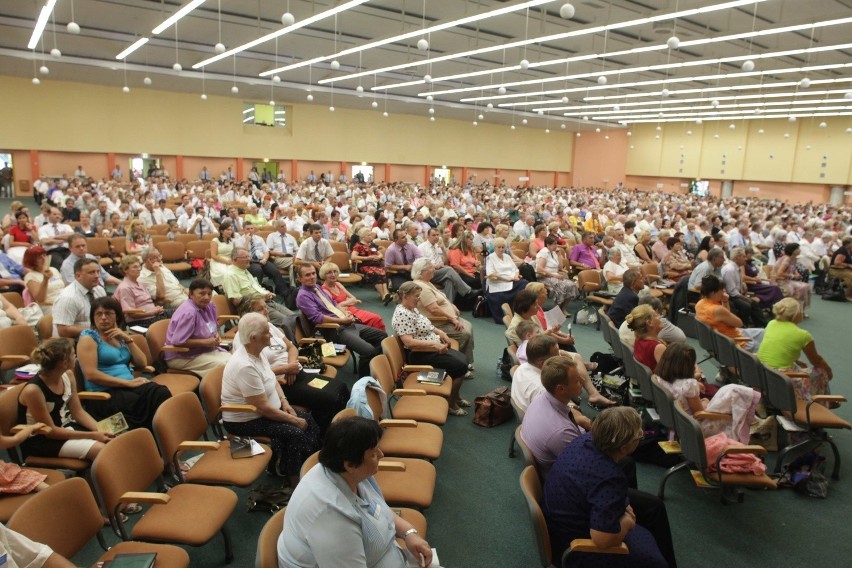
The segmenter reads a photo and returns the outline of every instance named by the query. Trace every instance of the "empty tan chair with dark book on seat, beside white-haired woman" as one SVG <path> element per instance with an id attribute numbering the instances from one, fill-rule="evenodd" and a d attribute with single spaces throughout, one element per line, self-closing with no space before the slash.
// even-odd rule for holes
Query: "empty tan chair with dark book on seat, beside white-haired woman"
<path id="1" fill-rule="evenodd" d="M 206 440 L 207 419 L 198 397 L 181 393 L 165 401 L 154 414 L 154 435 L 160 455 L 170 472 L 183 482 L 202 485 L 251 485 L 272 458 L 269 446 L 264 453 L 244 459 L 231 457 L 228 440 Z M 204 437 L 204 441 L 199 438 Z M 202 452 L 189 471 L 182 471 L 181 457 L 186 452 Z"/>

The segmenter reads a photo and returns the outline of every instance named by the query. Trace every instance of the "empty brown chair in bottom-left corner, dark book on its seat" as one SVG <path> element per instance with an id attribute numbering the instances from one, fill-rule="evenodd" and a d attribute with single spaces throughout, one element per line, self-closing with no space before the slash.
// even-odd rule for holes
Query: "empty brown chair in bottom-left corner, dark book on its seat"
<path id="1" fill-rule="evenodd" d="M 104 550 L 107 549 L 101 534 L 104 518 L 89 484 L 79 477 L 33 494 L 12 515 L 7 526 L 27 538 L 48 545 L 65 558 L 77 554 L 93 536 L 98 538 Z M 189 566 L 189 555 L 182 548 L 132 541 L 113 545 L 98 559 L 98 563 L 111 560 L 119 554 L 145 553 L 157 555 L 156 566 Z"/>

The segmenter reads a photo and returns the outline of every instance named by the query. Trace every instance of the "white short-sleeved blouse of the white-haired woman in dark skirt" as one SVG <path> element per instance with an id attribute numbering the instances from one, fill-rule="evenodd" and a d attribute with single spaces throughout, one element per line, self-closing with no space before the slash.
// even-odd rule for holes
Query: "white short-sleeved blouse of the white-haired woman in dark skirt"
<path id="1" fill-rule="evenodd" d="M 273 408 L 281 408 L 275 388 L 275 373 L 265 357 L 257 358 L 238 349 L 222 372 L 222 404 L 246 404 L 250 396 L 266 395 Z M 249 422 L 260 418 L 256 412 L 223 412 L 225 422 Z"/>

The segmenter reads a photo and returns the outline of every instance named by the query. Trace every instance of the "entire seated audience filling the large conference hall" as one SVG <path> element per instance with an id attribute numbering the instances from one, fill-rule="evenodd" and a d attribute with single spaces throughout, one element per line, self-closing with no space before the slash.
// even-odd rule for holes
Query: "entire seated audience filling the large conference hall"
<path id="1" fill-rule="evenodd" d="M 225 430 L 267 438 L 268 471 L 294 488 L 281 566 L 335 564 L 353 550 L 368 565 L 428 560 L 429 545 L 388 508 L 373 478 L 382 429 L 362 418 L 332 423 L 349 389 L 324 376 L 329 388 L 309 386 L 318 375 L 300 364 L 294 330 L 347 347 L 358 376 L 371 374 L 393 333 L 409 363 L 446 371 L 449 413 L 466 416 L 471 403 L 461 390 L 475 373 L 474 334 L 463 312 L 476 306 L 474 315 L 490 312 L 502 324 L 508 310 L 506 337 L 520 363 L 512 400 L 544 476 L 555 558 L 571 539 L 591 536 L 601 547 L 626 543 L 624 565 L 673 567 L 665 507 L 636 488 L 630 454 L 642 439 L 641 419 L 629 407 L 594 418 L 580 411 L 584 390 L 594 407 L 613 401 L 591 380 L 595 364 L 580 355 L 583 346 L 551 323 L 545 306 L 570 317 L 571 302 L 586 292 L 575 279 L 595 274 L 612 298 L 608 315 L 619 336 L 690 413 L 738 398 L 748 409 L 733 424 L 747 426 L 760 395 L 703 378 L 655 286 L 674 288 L 672 302 L 697 300 L 699 320 L 772 368 L 801 368 L 804 352 L 812 368 L 796 383 L 797 396 L 829 392 L 832 370 L 797 324 L 813 301 L 811 279 L 817 291 L 834 280 L 852 290 L 848 207 L 692 195 L 660 202 L 622 188 L 427 192 L 398 183 L 254 181 L 39 181 L 40 190 L 50 186 L 39 195 L 39 216 L 31 220 L 27 207 L 12 203 L 2 222 L 0 286 L 53 322 L 53 339 L 32 356 L 41 370 L 19 398 L 21 423 L 52 429 L 24 441 L 25 454 L 92 460 L 110 440 L 96 422 L 116 412 L 131 428 L 152 428 L 173 393 L 141 374 L 151 361 L 128 326 L 162 330 L 161 370 L 203 377 L 223 368 L 222 403 L 250 405 L 224 412 Z M 188 286 L 158 246 L 182 242 L 180 235 L 210 244 L 204 277 Z M 96 236 L 113 239 L 111 262 L 89 253 Z M 392 318 L 358 306 L 344 284 L 350 272 L 385 305 L 396 299 Z M 229 313 L 219 313 L 217 295 Z M 2 302 L 0 327 L 33 325 Z M 219 317 L 231 314 L 239 318 L 233 343 Z M 81 402 L 75 369 L 79 384 L 109 399 Z M 742 439 L 731 423 L 703 427 L 707 436 Z M 319 466 L 300 481 L 317 451 Z M 27 487 L 39 490 L 38 479 Z M 312 531 L 315 523 L 334 529 Z"/>

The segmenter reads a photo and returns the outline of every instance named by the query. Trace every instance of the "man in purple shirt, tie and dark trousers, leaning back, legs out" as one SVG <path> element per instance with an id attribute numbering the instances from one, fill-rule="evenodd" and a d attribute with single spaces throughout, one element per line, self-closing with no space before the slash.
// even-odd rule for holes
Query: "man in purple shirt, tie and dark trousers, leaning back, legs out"
<path id="1" fill-rule="evenodd" d="M 328 339 L 342 343 L 360 355 L 358 374 L 361 377 L 369 376 L 370 360 L 382 352 L 382 340 L 387 334 L 359 323 L 352 314 L 338 309 L 331 296 L 321 286 L 317 286 L 317 269 L 313 265 L 300 264 L 298 270 L 299 283 L 302 286 L 296 294 L 296 306 L 302 310 L 302 315 L 314 325 L 339 325 L 337 329 L 323 331 L 331 332 Z"/>

